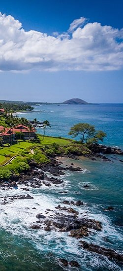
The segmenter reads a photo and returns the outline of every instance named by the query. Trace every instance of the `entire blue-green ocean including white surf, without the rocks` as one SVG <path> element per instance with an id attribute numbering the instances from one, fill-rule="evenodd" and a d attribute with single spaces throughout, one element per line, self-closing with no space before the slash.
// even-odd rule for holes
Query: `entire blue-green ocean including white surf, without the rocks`
<path id="1" fill-rule="evenodd" d="M 35 106 L 36 112 L 20 113 L 19 116 L 30 120 L 48 120 L 51 128 L 46 134 L 68 137 L 69 129 L 78 122 L 88 122 L 97 130 L 106 132 L 104 143 L 123 148 L 123 104 L 97 105 L 41 105 Z M 42 133 L 42 129 L 38 129 Z M 79 246 L 79 240 L 68 237 L 67 233 L 32 230 L 36 214 L 45 214 L 46 208 L 55 210 L 63 200 L 81 200 L 76 206 L 82 217 L 94 218 L 102 222 L 102 231 L 92 231 L 88 242 L 112 248 L 123 253 L 123 157 L 108 156 L 111 162 L 89 159 L 63 159 L 66 165 L 74 163 L 84 172 L 67 172 L 61 178 L 61 185 L 40 188 L 29 187 L 30 191 L 19 189 L 0 191 L 2 197 L 12 195 L 33 196 L 33 200 L 17 200 L 0 205 L 0 271 L 62 271 L 59 258 L 76 260 L 79 271 L 122 271 L 123 267 L 115 261 L 87 252 Z M 84 185 L 90 184 L 89 189 Z M 60 194 L 61 191 L 67 194 Z M 77 193 L 76 193 L 77 192 Z M 113 206 L 113 211 L 104 208 Z M 35 207 L 36 209 L 33 209 Z M 75 271 L 75 268 L 64 268 Z"/>

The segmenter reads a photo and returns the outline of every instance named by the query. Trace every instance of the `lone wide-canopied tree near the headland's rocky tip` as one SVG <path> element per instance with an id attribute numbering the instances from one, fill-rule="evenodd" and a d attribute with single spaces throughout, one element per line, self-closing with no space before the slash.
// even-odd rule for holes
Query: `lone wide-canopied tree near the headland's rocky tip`
<path id="1" fill-rule="evenodd" d="M 73 137 L 81 136 L 82 143 L 96 143 L 98 140 L 103 141 L 106 134 L 103 131 L 96 131 L 93 125 L 89 123 L 78 123 L 70 128 L 69 135 Z"/>

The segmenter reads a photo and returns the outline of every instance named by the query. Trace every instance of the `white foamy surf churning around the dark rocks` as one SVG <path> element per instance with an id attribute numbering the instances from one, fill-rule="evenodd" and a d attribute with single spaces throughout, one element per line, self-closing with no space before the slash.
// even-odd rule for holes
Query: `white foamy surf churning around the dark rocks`
<path id="1" fill-rule="evenodd" d="M 49 174 L 49 176 L 51 176 L 51 174 Z M 61 176 L 61 178 L 64 179 L 63 184 L 66 186 L 65 191 L 69 192 L 69 190 L 66 190 L 70 184 L 69 180 L 65 180 L 64 175 Z M 84 184 L 84 182 L 79 183 L 79 185 L 81 184 Z M 25 185 L 20 185 L 17 190 L 0 190 L 0 203 L 3 202 L 4 197 L 8 199 L 8 197 L 16 195 L 30 194 L 34 198 L 31 200 L 9 200 L 9 203 L 0 205 L 0 227 L 2 229 L 11 232 L 14 235 L 28 238 L 29 241 L 31 241 L 31 244 L 33 243 L 33 246 L 40 251 L 51 252 L 52 249 L 52 252 L 57 254 L 58 258 L 68 257 L 67 260 L 69 261 L 76 259 L 79 263 L 81 263 L 82 267 L 87 265 L 87 268 L 90 271 L 92 271 L 91 268 L 94 270 L 95 266 L 98 268 L 105 268 L 105 266 L 108 266 L 109 270 L 121 271 L 121 268 L 118 267 L 117 264 L 109 261 L 107 258 L 100 257 L 96 254 L 93 254 L 92 256 L 91 252 L 80 249 L 79 240 L 69 237 L 68 233 L 54 231 L 47 233 L 42 229 L 31 229 L 31 225 L 37 220 L 36 214 L 42 213 L 45 216 L 50 214 L 54 215 L 54 212 L 56 211 L 55 206 L 58 204 L 63 206 L 62 202 L 66 200 L 66 197 L 68 201 L 75 201 L 74 193 L 73 196 L 70 197 L 64 194 L 62 194 L 60 198 L 57 197 L 53 192 L 57 192 L 58 190 L 61 191 L 62 184 L 59 184 L 59 186 L 51 185 L 51 187 L 42 185 L 40 188 L 31 188 L 29 186 L 29 192 L 21 189 L 25 187 Z M 96 232 L 91 230 L 92 234 L 85 238 L 87 241 L 92 241 L 93 243 L 100 245 L 101 242 L 102 244 L 104 243 L 105 236 L 112 239 L 114 243 L 116 240 L 121 240 L 121 235 L 118 234 L 115 228 L 111 225 L 110 219 L 107 218 L 106 214 L 97 212 L 96 205 L 90 206 L 84 203 L 84 205 L 72 207 L 79 211 L 80 217 L 96 219 L 102 222 L 102 231 Z M 51 209 L 49 214 L 46 214 L 45 212 L 47 208 Z M 62 212 L 66 213 L 65 211 Z"/>

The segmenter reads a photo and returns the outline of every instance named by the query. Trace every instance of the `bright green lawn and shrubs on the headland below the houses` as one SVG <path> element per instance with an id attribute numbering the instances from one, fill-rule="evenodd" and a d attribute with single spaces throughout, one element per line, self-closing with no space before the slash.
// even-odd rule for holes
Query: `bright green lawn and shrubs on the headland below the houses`
<path id="1" fill-rule="evenodd" d="M 41 135 L 39 138 L 42 140 Z M 57 142 L 57 143 L 56 143 Z M 33 148 L 33 154 L 31 149 Z M 0 149 L 0 159 L 5 153 L 7 161 L 14 155 L 17 156 L 11 163 L 4 167 L 0 167 L 0 178 L 10 178 L 12 174 L 20 174 L 30 168 L 31 160 L 37 164 L 48 163 L 52 157 L 56 155 L 85 155 L 89 154 L 90 150 L 87 146 L 81 143 L 73 142 L 71 140 L 55 137 L 45 137 L 45 142 L 40 141 L 40 145 L 32 142 L 21 142 L 8 148 Z M 6 162 L 3 161 L 4 163 Z M 3 163 L 1 163 L 2 165 Z"/>

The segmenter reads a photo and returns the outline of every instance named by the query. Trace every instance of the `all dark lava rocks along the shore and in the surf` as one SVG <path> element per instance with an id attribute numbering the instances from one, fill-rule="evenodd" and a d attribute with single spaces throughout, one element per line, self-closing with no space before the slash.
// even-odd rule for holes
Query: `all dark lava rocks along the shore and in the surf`
<path id="1" fill-rule="evenodd" d="M 96 150 L 92 149 L 92 154 L 86 156 L 92 160 L 96 158 L 101 158 L 104 161 L 110 161 L 105 154 L 117 154 L 123 155 L 123 151 L 120 149 L 114 149 L 111 147 L 106 147 L 102 145 L 97 145 Z M 96 157 L 96 158 L 95 158 Z M 71 158 L 71 156 L 69 156 Z M 72 156 L 73 158 L 73 156 Z M 74 157 L 75 158 L 75 157 Z M 77 159 L 78 157 L 76 157 Z M 26 195 L 16 195 L 2 198 L 2 205 L 9 204 L 15 200 L 33 200 L 33 197 L 30 196 L 30 188 L 40 188 L 43 185 L 46 187 L 50 186 L 59 186 L 62 185 L 62 191 L 59 193 L 67 194 L 67 191 L 64 190 L 65 185 L 62 180 L 63 175 L 67 170 L 69 171 L 80 171 L 83 172 L 83 169 L 80 167 L 75 167 L 71 164 L 69 167 L 63 167 L 62 162 L 52 158 L 51 161 L 47 164 L 37 164 L 35 161 L 31 161 L 30 169 L 21 173 L 19 176 L 13 175 L 9 180 L 0 180 L 0 189 L 2 190 L 11 190 L 18 189 L 20 185 L 23 185 L 22 191 L 26 192 Z M 49 175 L 50 173 L 50 175 Z M 86 186 L 85 189 L 89 187 Z M 28 193 L 28 194 L 27 194 Z M 46 208 L 45 215 L 42 213 L 36 214 L 36 221 L 34 221 L 30 229 L 31 230 L 44 230 L 46 232 L 65 232 L 69 237 L 77 238 L 82 247 L 85 250 L 88 250 L 92 253 L 97 253 L 98 255 L 105 256 L 110 260 L 118 261 L 120 264 L 123 263 L 123 255 L 115 252 L 112 249 L 107 249 L 105 247 L 100 247 L 96 244 L 88 243 L 83 241 L 83 237 L 88 237 L 96 232 L 102 231 L 102 223 L 98 220 L 90 219 L 79 213 L 76 209 L 77 206 L 83 206 L 83 202 L 78 201 L 62 201 L 59 205 L 55 207 L 55 210 Z M 36 209 L 33 207 L 33 209 Z M 113 207 L 109 206 L 106 210 L 112 211 Z M 60 265 L 66 267 L 79 267 L 77 261 L 68 262 L 66 259 L 59 259 Z"/>

